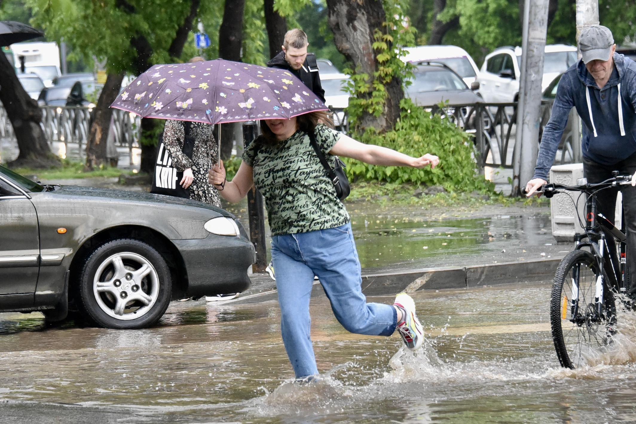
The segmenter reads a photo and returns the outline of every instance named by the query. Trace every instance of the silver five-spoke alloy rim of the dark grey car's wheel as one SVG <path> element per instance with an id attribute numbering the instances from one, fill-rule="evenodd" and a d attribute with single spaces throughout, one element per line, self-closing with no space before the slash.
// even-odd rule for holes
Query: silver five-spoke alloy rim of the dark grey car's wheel
<path id="1" fill-rule="evenodd" d="M 155 305 L 159 295 L 159 277 L 153 264 L 133 252 L 107 257 L 93 278 L 97 304 L 117 320 L 140 318 Z"/>

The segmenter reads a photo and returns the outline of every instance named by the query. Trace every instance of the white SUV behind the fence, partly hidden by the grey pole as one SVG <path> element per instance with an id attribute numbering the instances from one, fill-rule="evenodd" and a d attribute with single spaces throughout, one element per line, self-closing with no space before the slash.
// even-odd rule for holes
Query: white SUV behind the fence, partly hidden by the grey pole
<path id="1" fill-rule="evenodd" d="M 576 47 L 565 44 L 548 44 L 545 48 L 543 64 L 543 81 L 541 90 L 577 61 Z M 519 78 L 521 75 L 520 47 L 500 47 L 490 53 L 481 65 L 477 77 L 480 92 L 485 102 L 509 103 L 516 101 L 519 94 Z"/>

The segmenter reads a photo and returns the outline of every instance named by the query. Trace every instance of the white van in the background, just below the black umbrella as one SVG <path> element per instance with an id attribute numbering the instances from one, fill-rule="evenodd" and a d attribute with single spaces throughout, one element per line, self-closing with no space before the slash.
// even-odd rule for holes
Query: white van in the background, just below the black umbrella
<path id="1" fill-rule="evenodd" d="M 62 75 L 60 72 L 60 49 L 56 43 L 15 43 L 11 44 L 13 64 L 16 72 L 22 73 L 24 64 L 25 74 L 38 74 L 44 85 L 53 86 L 53 78 Z"/>

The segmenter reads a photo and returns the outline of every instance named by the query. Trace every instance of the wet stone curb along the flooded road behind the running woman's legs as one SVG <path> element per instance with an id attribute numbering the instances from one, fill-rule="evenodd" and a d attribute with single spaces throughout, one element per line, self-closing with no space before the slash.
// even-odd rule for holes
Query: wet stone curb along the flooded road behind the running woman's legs
<path id="1" fill-rule="evenodd" d="M 503 262 L 469 266 L 445 266 L 421 268 L 394 273 L 370 274 L 362 276 L 362 291 L 365 296 L 388 296 L 405 291 L 466 289 L 487 285 L 551 281 L 561 257 L 532 259 L 530 261 Z M 263 280 L 254 275 L 252 281 Z M 269 278 L 269 276 L 267 276 Z M 272 281 L 273 283 L 273 281 Z M 256 287 L 253 287 L 258 291 Z M 264 285 L 265 291 L 251 292 L 227 303 L 259 303 L 277 299 L 277 291 L 271 285 Z M 324 296 L 322 286 L 314 282 L 312 296 Z"/>

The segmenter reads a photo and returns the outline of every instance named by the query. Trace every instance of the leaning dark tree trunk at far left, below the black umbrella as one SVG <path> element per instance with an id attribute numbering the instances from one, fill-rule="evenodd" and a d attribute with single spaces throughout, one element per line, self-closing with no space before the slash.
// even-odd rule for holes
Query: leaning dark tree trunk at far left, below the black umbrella
<path id="1" fill-rule="evenodd" d="M 22 88 L 13 65 L 0 53 L 0 101 L 13 125 L 20 153 L 10 167 L 50 168 L 60 165 L 40 127 L 42 111 L 38 102 Z"/>

